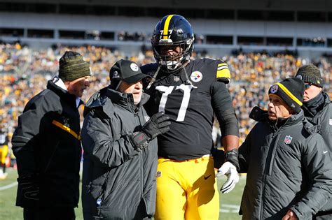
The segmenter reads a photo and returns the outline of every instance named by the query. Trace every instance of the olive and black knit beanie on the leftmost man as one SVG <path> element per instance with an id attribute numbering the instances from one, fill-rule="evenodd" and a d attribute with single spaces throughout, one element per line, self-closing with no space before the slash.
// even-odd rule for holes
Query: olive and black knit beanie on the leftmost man
<path id="1" fill-rule="evenodd" d="M 62 81 L 74 81 L 91 75 L 90 65 L 78 52 L 66 51 L 60 58 L 59 78 Z"/>

